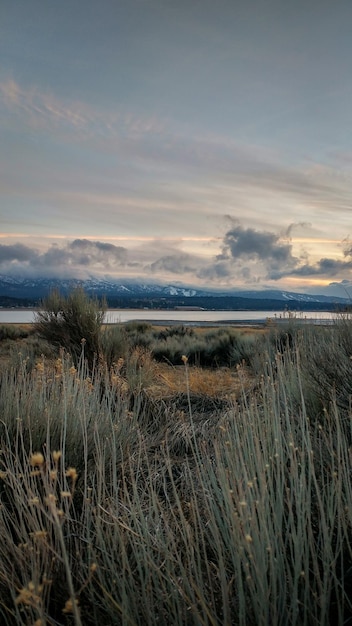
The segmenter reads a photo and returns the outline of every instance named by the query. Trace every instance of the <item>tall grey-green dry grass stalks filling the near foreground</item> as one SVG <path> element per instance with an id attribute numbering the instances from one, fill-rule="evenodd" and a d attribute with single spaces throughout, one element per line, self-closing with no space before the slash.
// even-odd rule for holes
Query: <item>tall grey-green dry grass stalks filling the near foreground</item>
<path id="1" fill-rule="evenodd" d="M 135 357 L 131 380 L 148 365 Z M 0 623 L 348 623 L 351 450 L 336 405 L 322 425 L 303 393 L 292 403 L 293 353 L 260 396 L 215 416 L 187 409 L 202 371 L 175 370 L 184 410 L 160 402 L 157 423 L 66 354 L 2 373 Z"/>

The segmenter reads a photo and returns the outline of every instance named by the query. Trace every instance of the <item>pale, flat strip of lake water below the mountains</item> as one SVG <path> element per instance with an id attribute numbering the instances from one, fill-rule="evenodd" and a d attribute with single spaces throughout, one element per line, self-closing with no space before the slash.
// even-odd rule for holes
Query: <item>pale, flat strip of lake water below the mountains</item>
<path id="1" fill-rule="evenodd" d="M 34 320 L 34 311 L 30 309 L 0 309 L 0 324 L 30 324 Z M 291 314 L 292 316 L 292 314 Z M 336 313 L 331 311 L 304 311 L 295 316 L 304 322 L 331 323 Z M 263 323 L 268 318 L 273 321 L 288 320 L 289 314 L 282 311 L 170 311 L 151 309 L 108 309 L 108 324 L 146 321 L 158 324 L 229 324 Z"/>

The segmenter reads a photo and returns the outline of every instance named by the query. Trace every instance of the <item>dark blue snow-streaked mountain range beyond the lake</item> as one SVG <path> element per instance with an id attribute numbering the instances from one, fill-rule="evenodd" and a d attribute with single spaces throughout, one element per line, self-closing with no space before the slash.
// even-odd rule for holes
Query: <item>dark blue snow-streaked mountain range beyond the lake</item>
<path id="1" fill-rule="evenodd" d="M 174 308 L 175 306 L 200 306 L 210 309 L 300 309 L 322 310 L 345 307 L 346 298 L 310 295 L 274 289 L 215 290 L 164 285 L 137 281 L 118 281 L 111 278 L 58 279 L 18 278 L 0 275 L 1 306 L 36 306 L 52 290 L 67 294 L 83 287 L 88 295 L 105 297 L 109 307 Z"/>

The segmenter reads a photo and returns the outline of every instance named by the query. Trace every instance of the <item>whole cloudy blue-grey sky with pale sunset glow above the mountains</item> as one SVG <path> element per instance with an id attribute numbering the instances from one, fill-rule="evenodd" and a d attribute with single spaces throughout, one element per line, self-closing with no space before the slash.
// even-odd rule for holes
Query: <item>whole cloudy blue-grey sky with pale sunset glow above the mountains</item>
<path id="1" fill-rule="evenodd" d="M 1 0 L 0 274 L 352 297 L 350 0 Z"/>

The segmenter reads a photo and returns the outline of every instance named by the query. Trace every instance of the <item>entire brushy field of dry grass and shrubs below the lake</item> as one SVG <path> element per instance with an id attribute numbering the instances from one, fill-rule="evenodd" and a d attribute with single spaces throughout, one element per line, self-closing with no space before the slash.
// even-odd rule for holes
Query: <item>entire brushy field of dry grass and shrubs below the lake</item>
<path id="1" fill-rule="evenodd" d="M 352 623 L 350 319 L 39 331 L 0 328 L 1 624 Z"/>

